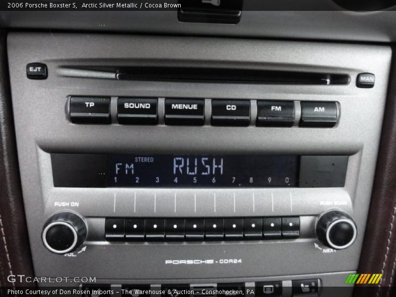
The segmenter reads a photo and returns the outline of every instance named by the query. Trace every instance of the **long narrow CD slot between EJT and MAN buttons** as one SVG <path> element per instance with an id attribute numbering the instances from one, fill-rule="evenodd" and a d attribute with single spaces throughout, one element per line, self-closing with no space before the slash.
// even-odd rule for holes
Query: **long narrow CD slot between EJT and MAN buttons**
<path id="1" fill-rule="evenodd" d="M 349 75 L 343 73 L 250 69 L 235 66 L 63 66 L 58 69 L 58 73 L 63 77 L 150 82 L 281 85 L 348 85 L 350 82 Z"/>

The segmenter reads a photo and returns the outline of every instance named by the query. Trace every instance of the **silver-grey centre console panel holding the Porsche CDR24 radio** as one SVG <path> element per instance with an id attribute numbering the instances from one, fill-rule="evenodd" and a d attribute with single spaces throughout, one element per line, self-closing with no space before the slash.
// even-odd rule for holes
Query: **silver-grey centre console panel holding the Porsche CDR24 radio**
<path id="1" fill-rule="evenodd" d="M 37 276 L 331 296 L 356 272 L 390 48 L 10 33 L 8 52 Z"/>

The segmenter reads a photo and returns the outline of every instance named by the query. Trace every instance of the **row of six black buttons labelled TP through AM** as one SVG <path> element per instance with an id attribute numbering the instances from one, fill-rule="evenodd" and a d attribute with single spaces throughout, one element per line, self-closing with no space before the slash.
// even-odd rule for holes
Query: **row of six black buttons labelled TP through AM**
<path id="1" fill-rule="evenodd" d="M 211 105 L 211 125 L 249 126 L 250 100 L 212 99 Z M 164 109 L 166 125 L 204 125 L 204 99 L 165 99 Z M 109 97 L 71 97 L 69 111 L 73 123 L 111 123 Z M 336 102 L 301 102 L 301 127 L 334 127 L 338 118 Z M 117 121 L 123 125 L 158 124 L 158 99 L 118 98 Z M 256 126 L 291 127 L 294 122 L 294 101 L 257 100 Z"/>

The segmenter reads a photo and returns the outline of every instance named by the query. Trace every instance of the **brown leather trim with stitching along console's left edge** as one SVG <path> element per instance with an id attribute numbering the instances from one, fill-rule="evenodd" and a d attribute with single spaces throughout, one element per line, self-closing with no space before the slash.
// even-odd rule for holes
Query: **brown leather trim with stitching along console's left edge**
<path id="1" fill-rule="evenodd" d="M 9 93 L 6 33 L 0 31 L 0 286 L 32 286 L 8 282 L 8 275 L 33 275 Z"/>

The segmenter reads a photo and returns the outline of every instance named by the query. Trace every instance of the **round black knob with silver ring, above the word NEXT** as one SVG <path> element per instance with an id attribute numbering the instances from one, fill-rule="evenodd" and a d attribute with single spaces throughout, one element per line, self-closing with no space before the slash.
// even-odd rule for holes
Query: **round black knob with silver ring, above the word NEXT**
<path id="1" fill-rule="evenodd" d="M 355 222 L 341 210 L 329 210 L 316 221 L 316 237 L 328 247 L 344 249 L 353 244 L 357 231 Z"/>

